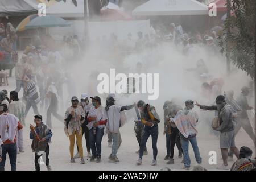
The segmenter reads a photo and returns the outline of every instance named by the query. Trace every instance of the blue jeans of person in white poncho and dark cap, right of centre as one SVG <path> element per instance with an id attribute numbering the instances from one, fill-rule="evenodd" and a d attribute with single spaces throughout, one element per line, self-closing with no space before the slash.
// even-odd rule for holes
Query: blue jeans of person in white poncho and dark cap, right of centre
<path id="1" fill-rule="evenodd" d="M 196 158 L 196 162 L 201 164 L 202 163 L 202 158 L 200 157 L 200 152 L 199 152 L 199 148 L 197 146 L 197 141 L 196 141 L 196 136 L 195 137 L 189 137 L 189 138 L 184 138 L 182 134 L 180 134 L 180 143 L 181 143 L 181 147 L 183 150 L 183 155 L 184 155 L 184 165 L 185 167 L 190 167 L 190 158 L 189 158 L 189 152 L 188 152 L 188 144 L 189 141 L 193 147 L 193 151 L 195 154 L 195 158 Z"/>

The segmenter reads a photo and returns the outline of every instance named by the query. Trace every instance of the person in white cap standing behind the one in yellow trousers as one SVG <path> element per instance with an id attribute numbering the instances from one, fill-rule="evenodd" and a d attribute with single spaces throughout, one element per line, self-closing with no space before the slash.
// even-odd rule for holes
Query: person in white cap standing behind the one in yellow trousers
<path id="1" fill-rule="evenodd" d="M 85 121 L 82 123 L 82 135 L 85 137 L 85 142 L 86 142 L 86 149 L 87 149 L 87 156 L 88 158 L 92 157 L 92 154 L 90 153 L 90 139 L 89 139 L 89 129 L 86 125 L 88 125 L 88 120 L 87 116 L 89 114 L 89 110 L 92 107 L 92 104 L 89 102 L 89 96 L 87 93 L 82 93 L 81 95 L 81 100 L 79 102 L 79 105 L 84 109 L 85 113 Z M 74 156 L 74 158 L 79 158 L 79 147 L 77 146 L 77 154 Z"/>

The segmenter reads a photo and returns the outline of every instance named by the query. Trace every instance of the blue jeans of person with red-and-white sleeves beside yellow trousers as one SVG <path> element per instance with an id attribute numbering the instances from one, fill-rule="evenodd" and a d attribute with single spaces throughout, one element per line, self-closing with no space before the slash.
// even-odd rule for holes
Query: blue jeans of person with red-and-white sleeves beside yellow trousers
<path id="1" fill-rule="evenodd" d="M 101 140 L 104 135 L 104 128 L 96 127 L 96 134 L 93 133 L 93 127 L 89 130 L 90 148 L 94 156 L 101 156 Z"/>

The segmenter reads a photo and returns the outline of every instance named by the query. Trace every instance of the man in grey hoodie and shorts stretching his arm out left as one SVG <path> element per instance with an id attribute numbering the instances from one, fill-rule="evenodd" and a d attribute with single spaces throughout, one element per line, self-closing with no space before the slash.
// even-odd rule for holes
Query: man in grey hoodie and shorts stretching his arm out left
<path id="1" fill-rule="evenodd" d="M 233 151 L 238 158 L 239 151 L 235 144 L 235 134 L 234 134 L 234 123 L 233 114 L 236 113 L 233 107 L 226 103 L 225 96 L 219 95 L 216 97 L 215 106 L 204 106 L 196 102 L 196 106 L 204 110 L 217 110 L 218 119 L 220 120 L 220 126 L 214 128 L 216 131 L 220 131 L 220 148 L 223 164 L 217 169 L 229 170 L 228 168 L 228 149 Z"/>

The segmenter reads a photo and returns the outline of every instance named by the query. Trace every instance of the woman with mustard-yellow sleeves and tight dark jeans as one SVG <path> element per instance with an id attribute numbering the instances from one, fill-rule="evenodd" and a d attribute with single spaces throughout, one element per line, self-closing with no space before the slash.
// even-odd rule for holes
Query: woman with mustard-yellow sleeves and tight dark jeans
<path id="1" fill-rule="evenodd" d="M 137 104 L 138 105 L 138 104 Z M 153 160 L 151 166 L 156 166 L 156 156 L 158 155 L 157 141 L 158 141 L 158 123 L 160 122 L 159 115 L 156 113 L 155 107 L 149 104 L 144 104 L 138 107 L 141 110 L 141 121 L 145 125 L 142 137 L 142 143 L 139 147 L 139 159 L 136 164 L 142 164 L 142 156 L 148 138 L 152 137 Z"/>

